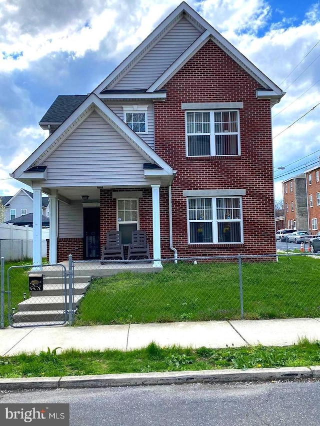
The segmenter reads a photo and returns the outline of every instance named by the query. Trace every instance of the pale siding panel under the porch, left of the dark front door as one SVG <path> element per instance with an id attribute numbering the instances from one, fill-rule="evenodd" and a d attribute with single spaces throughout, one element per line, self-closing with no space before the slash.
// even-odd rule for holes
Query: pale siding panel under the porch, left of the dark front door
<path id="1" fill-rule="evenodd" d="M 58 202 L 58 237 L 83 237 L 83 208 L 82 204 L 65 204 Z"/>

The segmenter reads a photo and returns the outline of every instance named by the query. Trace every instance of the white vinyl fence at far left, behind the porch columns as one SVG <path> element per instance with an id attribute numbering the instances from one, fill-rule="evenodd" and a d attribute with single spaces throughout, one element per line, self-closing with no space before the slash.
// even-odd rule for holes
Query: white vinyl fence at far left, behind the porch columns
<path id="1" fill-rule="evenodd" d="M 0 223 L 0 257 L 5 260 L 32 259 L 33 229 Z M 46 238 L 49 230 L 42 229 L 42 257 L 46 257 Z"/>

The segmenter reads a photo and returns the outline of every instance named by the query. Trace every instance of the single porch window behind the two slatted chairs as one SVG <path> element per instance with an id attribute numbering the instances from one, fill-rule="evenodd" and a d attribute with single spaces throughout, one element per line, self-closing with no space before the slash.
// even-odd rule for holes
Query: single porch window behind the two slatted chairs
<path id="1" fill-rule="evenodd" d="M 131 243 L 131 233 L 138 229 L 138 200 L 118 199 L 117 200 L 117 224 L 121 232 L 122 243 Z"/>

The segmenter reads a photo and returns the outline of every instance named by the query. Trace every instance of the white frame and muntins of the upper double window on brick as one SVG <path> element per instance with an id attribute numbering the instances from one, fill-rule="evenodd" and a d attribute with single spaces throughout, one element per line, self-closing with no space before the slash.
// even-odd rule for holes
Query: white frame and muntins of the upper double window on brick
<path id="1" fill-rule="evenodd" d="M 186 120 L 186 114 L 189 112 L 209 112 L 210 113 L 210 133 L 201 133 L 203 135 L 209 135 L 210 136 L 210 155 L 189 155 L 188 154 L 188 136 L 196 136 L 198 133 L 187 133 L 187 120 Z M 237 113 L 237 132 L 230 132 L 227 133 L 229 135 L 236 134 L 238 136 L 238 153 L 237 154 L 227 154 L 227 155 L 217 155 L 215 153 L 215 134 L 217 135 L 223 135 L 225 133 L 215 133 L 214 132 L 214 112 L 236 112 Z M 241 155 L 241 144 L 240 144 L 240 114 L 238 109 L 213 109 L 213 110 L 207 110 L 207 109 L 201 109 L 201 110 L 187 110 L 184 113 L 184 127 L 185 127 L 185 155 L 186 157 L 193 158 L 193 157 L 238 157 Z"/>

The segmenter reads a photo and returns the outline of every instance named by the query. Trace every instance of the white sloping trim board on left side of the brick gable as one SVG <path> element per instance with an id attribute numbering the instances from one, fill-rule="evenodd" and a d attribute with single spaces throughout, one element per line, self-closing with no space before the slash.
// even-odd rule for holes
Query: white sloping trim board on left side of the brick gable
<path id="1" fill-rule="evenodd" d="M 202 32 L 196 40 L 157 78 L 147 89 L 147 92 L 153 92 L 162 87 L 190 58 L 193 56 L 206 41 L 210 38 L 208 30 Z"/>

